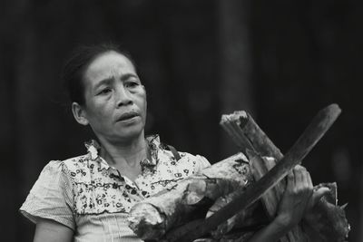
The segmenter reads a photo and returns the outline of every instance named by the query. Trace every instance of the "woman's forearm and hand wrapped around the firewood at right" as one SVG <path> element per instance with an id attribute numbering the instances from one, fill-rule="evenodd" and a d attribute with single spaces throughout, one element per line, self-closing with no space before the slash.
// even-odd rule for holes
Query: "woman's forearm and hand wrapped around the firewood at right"
<path id="1" fill-rule="evenodd" d="M 302 166 L 296 166 L 288 175 L 287 187 L 281 198 L 277 217 L 266 227 L 261 228 L 250 242 L 278 241 L 289 230 L 297 226 L 306 209 L 314 206 L 329 190 L 319 190 L 313 194 L 309 172 Z"/>

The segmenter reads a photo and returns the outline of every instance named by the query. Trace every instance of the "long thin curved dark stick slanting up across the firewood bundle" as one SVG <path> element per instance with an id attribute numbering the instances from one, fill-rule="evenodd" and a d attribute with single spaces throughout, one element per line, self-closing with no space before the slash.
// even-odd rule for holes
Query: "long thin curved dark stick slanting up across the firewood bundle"
<path id="1" fill-rule="evenodd" d="M 329 105 L 327 108 L 319 111 L 286 156 L 263 178 L 252 184 L 244 193 L 232 200 L 226 207 L 221 208 L 210 218 L 205 219 L 202 224 L 196 225 L 191 231 L 185 231 L 182 237 L 170 238 L 170 241 L 190 242 L 193 239 L 201 237 L 211 231 L 211 229 L 217 227 L 221 222 L 231 218 L 238 211 L 247 208 L 252 202 L 259 199 L 266 190 L 276 185 L 289 173 L 290 169 L 294 168 L 305 158 L 324 133 L 329 130 L 334 121 L 337 120 L 339 113 L 340 109 L 337 104 Z"/>

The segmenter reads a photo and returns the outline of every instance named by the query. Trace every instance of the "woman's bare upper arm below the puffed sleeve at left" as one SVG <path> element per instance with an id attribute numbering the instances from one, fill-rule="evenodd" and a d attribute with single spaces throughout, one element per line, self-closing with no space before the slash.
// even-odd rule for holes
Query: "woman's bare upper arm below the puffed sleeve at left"
<path id="1" fill-rule="evenodd" d="M 39 218 L 36 223 L 34 242 L 71 242 L 74 231 L 51 219 Z"/>

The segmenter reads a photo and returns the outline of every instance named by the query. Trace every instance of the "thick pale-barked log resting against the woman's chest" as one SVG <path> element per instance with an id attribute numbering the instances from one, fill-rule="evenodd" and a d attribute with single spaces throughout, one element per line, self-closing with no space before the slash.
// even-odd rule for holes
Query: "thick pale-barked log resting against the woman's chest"
<path id="1" fill-rule="evenodd" d="M 209 208 L 211 201 L 243 190 L 252 181 L 249 162 L 238 153 L 136 204 L 129 213 L 129 227 L 142 239 L 160 239 L 172 227 L 190 221 L 197 208 Z"/>

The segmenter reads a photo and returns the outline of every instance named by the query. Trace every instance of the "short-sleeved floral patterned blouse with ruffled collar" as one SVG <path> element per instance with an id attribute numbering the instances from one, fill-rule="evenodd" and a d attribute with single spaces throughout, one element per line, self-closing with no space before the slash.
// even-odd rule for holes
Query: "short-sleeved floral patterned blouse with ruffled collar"
<path id="1" fill-rule="evenodd" d="M 74 230 L 74 241 L 142 241 L 126 225 L 130 208 L 143 198 L 208 167 L 199 155 L 178 152 L 176 159 L 158 135 L 146 139 L 151 159 L 141 161 L 142 173 L 132 181 L 98 155 L 93 140 L 88 153 L 50 161 L 30 190 L 20 211 L 36 223 L 53 219 Z"/>

